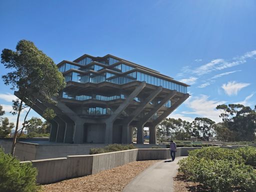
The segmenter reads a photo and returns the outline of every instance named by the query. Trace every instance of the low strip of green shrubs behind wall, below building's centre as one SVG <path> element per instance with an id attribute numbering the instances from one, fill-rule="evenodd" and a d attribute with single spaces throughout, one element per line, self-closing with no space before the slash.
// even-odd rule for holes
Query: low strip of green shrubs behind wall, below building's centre
<path id="1" fill-rule="evenodd" d="M 134 149 L 133 144 L 121 145 L 121 144 L 109 144 L 104 148 L 90 148 L 90 154 L 104 153 L 104 152 L 113 152 L 119 150 L 129 150 Z"/>

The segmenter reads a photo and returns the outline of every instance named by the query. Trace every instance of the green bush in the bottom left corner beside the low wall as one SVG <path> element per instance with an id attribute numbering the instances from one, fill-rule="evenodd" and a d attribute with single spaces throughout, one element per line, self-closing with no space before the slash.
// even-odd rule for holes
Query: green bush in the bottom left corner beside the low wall
<path id="1" fill-rule="evenodd" d="M 39 191 L 36 185 L 37 169 L 31 163 L 19 163 L 0 148 L 0 191 L 33 192 Z"/>

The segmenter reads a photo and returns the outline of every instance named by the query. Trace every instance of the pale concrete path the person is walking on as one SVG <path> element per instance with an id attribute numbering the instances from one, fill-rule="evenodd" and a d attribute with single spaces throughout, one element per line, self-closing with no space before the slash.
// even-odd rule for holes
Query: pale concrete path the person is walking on
<path id="1" fill-rule="evenodd" d="M 172 192 L 173 177 L 176 176 L 178 169 L 177 162 L 184 157 L 178 156 L 174 161 L 166 159 L 156 162 L 129 182 L 123 192 Z"/>

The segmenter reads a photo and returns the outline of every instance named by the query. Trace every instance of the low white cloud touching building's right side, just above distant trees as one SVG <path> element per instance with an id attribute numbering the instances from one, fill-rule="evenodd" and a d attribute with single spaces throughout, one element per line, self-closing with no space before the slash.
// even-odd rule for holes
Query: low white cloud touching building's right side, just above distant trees
<path id="1" fill-rule="evenodd" d="M 195 117 L 207 117 L 215 122 L 220 122 L 220 111 L 216 109 L 219 104 L 225 103 L 223 100 L 210 100 L 209 96 L 201 94 L 200 96 L 190 96 L 184 103 L 190 111 L 183 111 L 182 114 L 193 114 Z"/>

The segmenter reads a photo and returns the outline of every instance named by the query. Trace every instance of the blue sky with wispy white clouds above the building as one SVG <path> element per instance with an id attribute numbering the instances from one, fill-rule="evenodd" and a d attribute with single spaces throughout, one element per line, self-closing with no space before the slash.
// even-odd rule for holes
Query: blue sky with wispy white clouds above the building
<path id="1" fill-rule="evenodd" d="M 170 117 L 219 121 L 217 104 L 256 104 L 255 10 L 255 0 L 2 0 L 0 50 L 27 39 L 55 63 L 113 54 L 191 85 Z M 14 121 L 12 93 L 0 81 Z"/>

